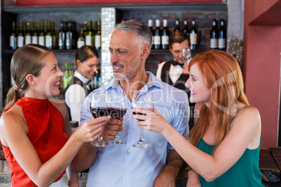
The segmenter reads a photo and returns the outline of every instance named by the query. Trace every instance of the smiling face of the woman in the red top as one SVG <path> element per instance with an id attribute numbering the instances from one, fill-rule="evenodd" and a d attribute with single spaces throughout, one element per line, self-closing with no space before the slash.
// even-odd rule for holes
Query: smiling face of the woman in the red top
<path id="1" fill-rule="evenodd" d="M 59 94 L 59 82 L 64 73 L 59 69 L 57 59 L 52 52 L 43 59 L 42 63 L 44 67 L 39 75 L 34 77 L 36 98 L 57 96 Z"/>

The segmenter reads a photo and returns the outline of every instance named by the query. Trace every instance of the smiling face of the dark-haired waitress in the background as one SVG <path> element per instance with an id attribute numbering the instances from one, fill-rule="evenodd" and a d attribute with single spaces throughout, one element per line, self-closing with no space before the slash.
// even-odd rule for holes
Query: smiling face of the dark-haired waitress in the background
<path id="1" fill-rule="evenodd" d="M 99 58 L 92 57 L 83 62 L 77 60 L 77 71 L 81 73 L 84 77 L 87 77 L 89 80 L 92 80 L 94 77 L 94 73 L 99 68 Z"/>

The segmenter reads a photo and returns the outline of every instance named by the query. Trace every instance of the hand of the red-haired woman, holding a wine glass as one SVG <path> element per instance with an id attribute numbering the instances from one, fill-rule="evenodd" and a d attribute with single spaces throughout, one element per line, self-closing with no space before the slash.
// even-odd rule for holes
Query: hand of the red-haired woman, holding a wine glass
<path id="1" fill-rule="evenodd" d="M 171 126 L 155 108 L 153 108 L 153 110 L 147 110 L 145 108 L 133 108 L 131 112 L 141 113 L 134 114 L 132 116 L 133 119 L 139 120 L 137 124 L 140 128 L 163 134 L 166 128 Z"/>

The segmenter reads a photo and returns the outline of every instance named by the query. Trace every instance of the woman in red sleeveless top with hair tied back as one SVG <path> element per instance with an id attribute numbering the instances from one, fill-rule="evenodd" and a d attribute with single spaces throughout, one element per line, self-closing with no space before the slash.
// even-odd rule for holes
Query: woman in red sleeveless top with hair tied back
<path id="1" fill-rule="evenodd" d="M 48 98 L 59 94 L 63 73 L 47 47 L 20 47 L 10 70 L 15 84 L 1 117 L 0 140 L 12 186 L 68 186 L 62 178 L 68 166 L 69 186 L 78 186 L 71 160 L 84 142 L 101 135 L 109 116 L 91 119 L 72 134 L 65 104 Z"/>

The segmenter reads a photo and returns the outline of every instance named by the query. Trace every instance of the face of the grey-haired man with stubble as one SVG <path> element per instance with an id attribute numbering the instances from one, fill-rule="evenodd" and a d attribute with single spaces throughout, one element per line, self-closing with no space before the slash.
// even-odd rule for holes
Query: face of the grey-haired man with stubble
<path id="1" fill-rule="evenodd" d="M 109 51 L 116 80 L 132 80 L 143 73 L 143 60 L 135 33 L 115 30 L 110 38 Z"/>

